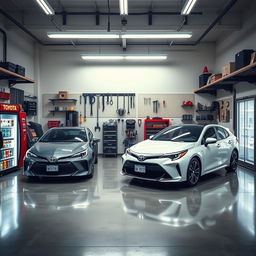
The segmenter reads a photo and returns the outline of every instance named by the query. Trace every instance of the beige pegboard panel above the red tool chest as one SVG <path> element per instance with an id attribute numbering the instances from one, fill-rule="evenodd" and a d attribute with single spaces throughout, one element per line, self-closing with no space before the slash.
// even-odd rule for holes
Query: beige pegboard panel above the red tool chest
<path id="1" fill-rule="evenodd" d="M 153 101 L 159 101 L 158 113 L 153 111 Z M 165 106 L 164 102 L 165 101 Z M 182 107 L 183 101 L 195 104 L 194 94 L 139 94 L 138 117 L 169 117 L 180 118 L 182 115 L 194 115 L 195 107 Z"/>

